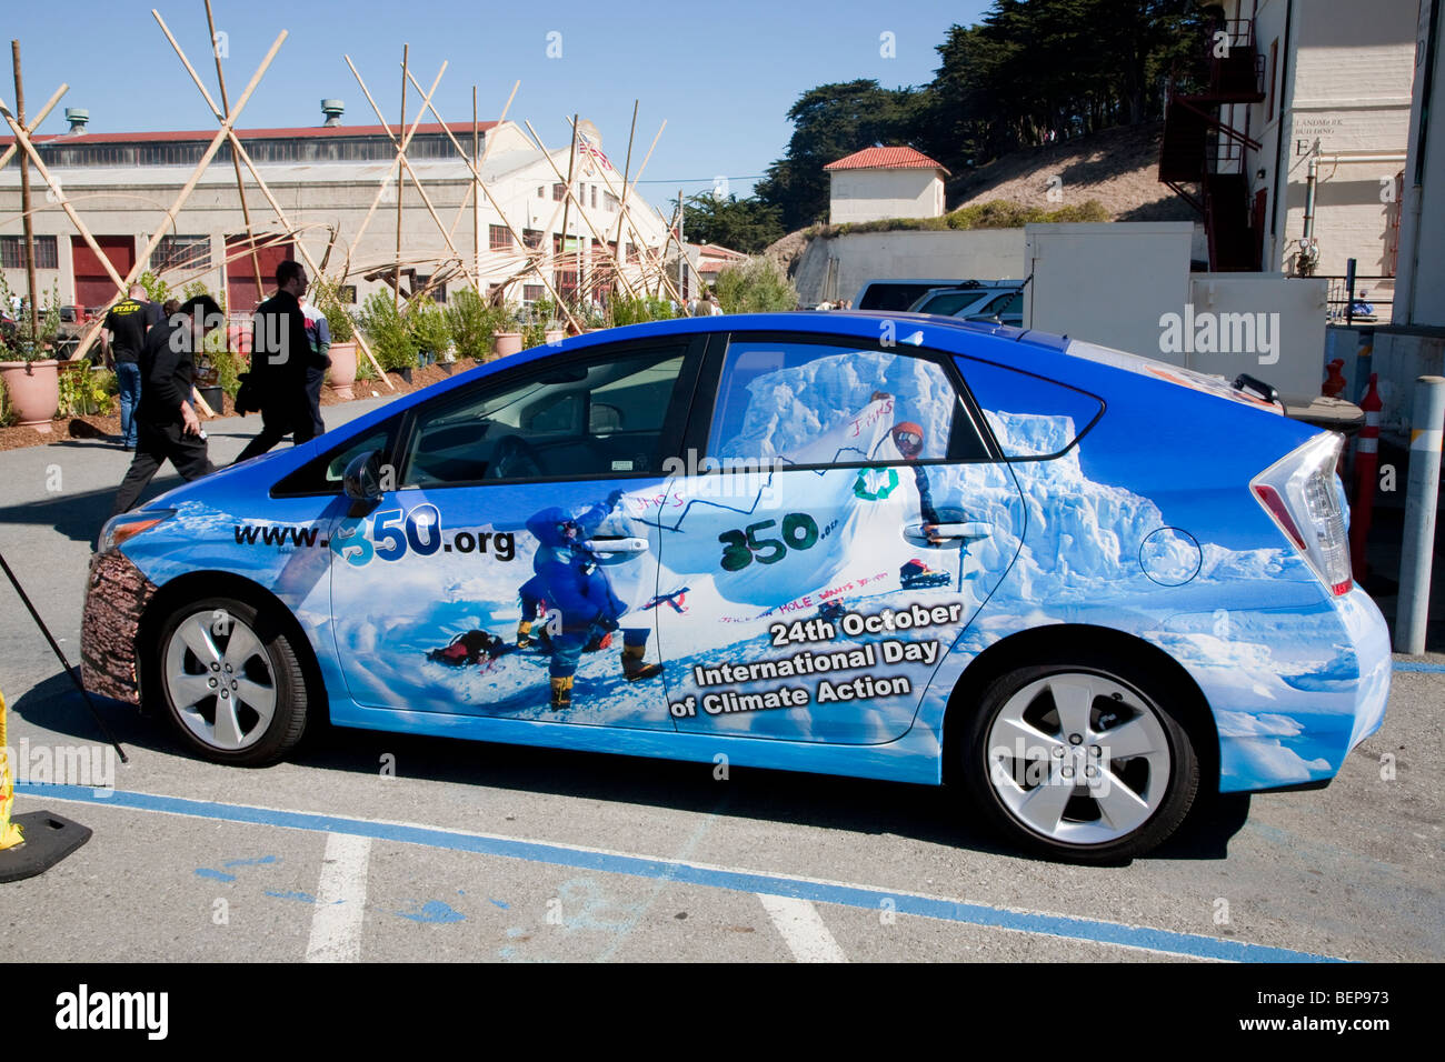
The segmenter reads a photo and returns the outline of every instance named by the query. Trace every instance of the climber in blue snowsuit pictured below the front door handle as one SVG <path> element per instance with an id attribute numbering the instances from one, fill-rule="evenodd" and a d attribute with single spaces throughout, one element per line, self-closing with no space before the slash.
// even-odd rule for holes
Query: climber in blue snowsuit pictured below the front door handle
<path id="1" fill-rule="evenodd" d="M 527 520 L 527 530 L 536 536 L 538 551 L 532 558 L 533 577 L 520 588 L 522 623 L 517 643 L 530 642 L 532 621 L 539 605 L 548 613 L 561 613 L 561 633 L 551 636 L 553 711 L 572 707 L 572 678 L 584 649 L 598 647 L 621 629 L 623 675 L 629 682 L 656 678 L 660 663 L 644 663 L 647 627 L 623 627 L 627 605 L 613 592 L 603 566 L 588 545 L 588 538 L 607 519 L 616 497 L 605 506 L 591 506 L 572 514 L 561 507 L 549 507 Z"/>

